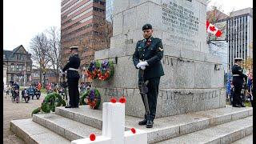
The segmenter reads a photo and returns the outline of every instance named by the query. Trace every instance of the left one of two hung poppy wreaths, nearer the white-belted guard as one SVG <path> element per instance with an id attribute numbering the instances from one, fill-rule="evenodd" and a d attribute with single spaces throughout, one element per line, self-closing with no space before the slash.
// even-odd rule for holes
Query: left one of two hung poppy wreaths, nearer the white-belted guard
<path id="1" fill-rule="evenodd" d="M 98 61 L 90 62 L 90 66 L 88 67 L 86 71 L 86 75 L 90 79 L 96 79 L 98 78 L 98 69 L 100 67 L 100 63 Z"/>

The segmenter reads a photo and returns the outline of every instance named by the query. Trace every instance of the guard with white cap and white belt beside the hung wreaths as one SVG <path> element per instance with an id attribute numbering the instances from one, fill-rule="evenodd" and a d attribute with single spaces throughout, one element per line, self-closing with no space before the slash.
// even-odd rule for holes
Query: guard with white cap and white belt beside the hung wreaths
<path id="1" fill-rule="evenodd" d="M 69 97 L 70 102 L 69 106 L 65 108 L 78 108 L 79 105 L 79 91 L 78 91 L 78 81 L 80 75 L 78 73 L 78 68 L 80 66 L 80 58 L 78 57 L 78 46 L 70 47 L 70 56 L 69 62 L 66 63 L 66 66 L 62 69 L 62 73 L 67 70 L 66 78 L 69 87 Z"/>

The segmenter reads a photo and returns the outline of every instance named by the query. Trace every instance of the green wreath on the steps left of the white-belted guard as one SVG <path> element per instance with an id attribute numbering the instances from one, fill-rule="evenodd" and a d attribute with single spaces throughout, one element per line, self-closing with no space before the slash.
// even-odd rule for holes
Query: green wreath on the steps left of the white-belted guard
<path id="1" fill-rule="evenodd" d="M 46 95 L 46 98 L 42 101 L 41 107 L 33 110 L 32 114 L 38 114 L 40 111 L 44 113 L 50 113 L 55 111 L 55 107 L 66 106 L 65 100 L 58 93 L 50 93 Z"/>

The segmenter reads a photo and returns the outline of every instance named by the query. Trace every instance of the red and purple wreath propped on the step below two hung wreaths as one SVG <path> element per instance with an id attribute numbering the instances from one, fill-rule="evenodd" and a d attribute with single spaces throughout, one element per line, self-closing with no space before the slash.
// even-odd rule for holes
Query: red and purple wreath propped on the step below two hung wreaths
<path id="1" fill-rule="evenodd" d="M 98 109 L 99 105 L 101 104 L 101 94 L 99 94 L 97 89 L 89 90 L 86 98 L 87 104 L 91 109 Z"/>

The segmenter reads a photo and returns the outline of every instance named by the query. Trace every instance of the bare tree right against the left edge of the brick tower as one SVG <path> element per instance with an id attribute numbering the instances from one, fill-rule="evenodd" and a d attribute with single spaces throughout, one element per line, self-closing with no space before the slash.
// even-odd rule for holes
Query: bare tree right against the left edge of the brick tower
<path id="1" fill-rule="evenodd" d="M 52 26 L 49 30 L 46 30 L 48 37 L 49 50 L 47 51 L 47 57 L 50 59 L 50 70 L 56 75 L 56 82 L 59 81 L 60 59 L 62 54 L 61 42 L 60 42 L 60 30 L 57 27 Z"/>

